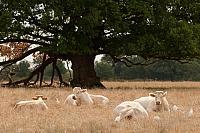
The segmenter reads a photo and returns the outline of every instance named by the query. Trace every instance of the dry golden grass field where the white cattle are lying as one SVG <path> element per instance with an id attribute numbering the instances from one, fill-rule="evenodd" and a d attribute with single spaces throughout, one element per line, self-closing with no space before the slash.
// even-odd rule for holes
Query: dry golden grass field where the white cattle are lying
<path id="1" fill-rule="evenodd" d="M 199 82 L 103 82 L 108 89 L 92 89 L 89 93 L 105 95 L 107 106 L 64 105 L 71 88 L 1 88 L 0 133 L 198 133 L 200 132 L 200 83 Z M 143 120 L 114 122 L 113 109 L 125 100 L 146 96 L 154 90 L 167 90 L 170 105 L 184 110 L 194 109 L 187 118 L 181 113 L 153 113 Z M 29 100 L 36 94 L 48 97 L 48 110 L 13 110 L 17 101 Z M 59 98 L 60 104 L 56 103 Z M 159 122 L 152 117 L 161 117 Z"/>

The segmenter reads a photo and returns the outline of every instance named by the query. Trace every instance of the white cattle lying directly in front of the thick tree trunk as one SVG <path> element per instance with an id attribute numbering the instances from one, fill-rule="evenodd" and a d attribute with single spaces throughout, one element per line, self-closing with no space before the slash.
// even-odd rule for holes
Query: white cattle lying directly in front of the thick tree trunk
<path id="1" fill-rule="evenodd" d="M 70 94 L 65 103 L 69 103 L 71 105 L 81 105 L 81 104 L 94 104 L 94 103 L 102 103 L 107 104 L 109 99 L 102 95 L 93 95 L 87 92 L 87 89 L 81 89 L 80 87 L 74 87 L 74 94 Z"/>

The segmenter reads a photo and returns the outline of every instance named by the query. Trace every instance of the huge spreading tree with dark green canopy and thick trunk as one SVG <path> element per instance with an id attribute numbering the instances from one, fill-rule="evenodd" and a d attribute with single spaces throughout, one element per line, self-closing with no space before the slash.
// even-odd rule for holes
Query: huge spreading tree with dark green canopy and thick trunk
<path id="1" fill-rule="evenodd" d="M 199 57 L 199 16 L 199 0 L 1 0 L 0 43 L 37 45 L 0 65 L 40 51 L 48 58 L 33 75 L 70 60 L 72 86 L 103 87 L 94 70 L 99 54 L 126 65 Z M 130 55 L 145 62 L 130 62 Z"/>

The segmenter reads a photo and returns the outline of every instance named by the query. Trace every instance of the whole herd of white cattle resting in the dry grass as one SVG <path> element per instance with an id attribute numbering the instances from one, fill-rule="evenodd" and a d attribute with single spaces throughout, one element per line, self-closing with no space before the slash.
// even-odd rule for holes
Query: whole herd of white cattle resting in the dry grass
<path id="1" fill-rule="evenodd" d="M 131 119 L 131 118 L 148 118 L 152 112 L 176 112 L 179 111 L 191 117 L 193 115 L 193 109 L 190 108 L 188 112 L 181 110 L 176 105 L 173 105 L 170 109 L 169 103 L 166 98 L 167 92 L 164 91 L 155 91 L 149 93 L 149 96 L 140 97 L 133 101 L 124 101 L 117 105 L 113 112 L 115 114 L 115 121 L 120 122 L 122 119 Z M 47 100 L 43 95 L 36 95 L 32 100 L 20 101 L 17 102 L 14 106 L 14 109 L 20 109 L 27 106 L 35 106 L 41 109 L 48 109 L 48 106 L 44 102 Z M 60 104 L 58 98 L 56 102 Z M 81 106 L 82 104 L 103 104 L 108 105 L 109 99 L 102 95 L 89 94 L 87 89 L 81 89 L 80 87 L 74 87 L 73 93 L 67 96 L 64 104 L 70 104 L 73 106 Z M 159 116 L 154 116 L 154 120 L 160 120 Z"/>

